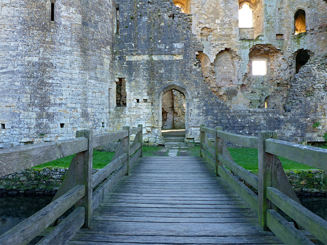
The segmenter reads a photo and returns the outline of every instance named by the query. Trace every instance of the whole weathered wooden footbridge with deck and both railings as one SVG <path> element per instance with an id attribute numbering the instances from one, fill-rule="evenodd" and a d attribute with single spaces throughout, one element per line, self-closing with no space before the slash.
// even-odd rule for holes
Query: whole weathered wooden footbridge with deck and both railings
<path id="1" fill-rule="evenodd" d="M 53 201 L 0 244 L 38 235 L 38 244 L 327 244 L 327 222 L 299 204 L 277 158 L 326 171 L 326 149 L 277 140 L 273 132 L 249 137 L 201 124 L 201 157 L 143 157 L 142 132 L 142 125 L 95 136 L 77 131 L 76 139 L 1 149 L 0 176 L 76 156 Z M 93 148 L 116 140 L 111 162 L 92 174 Z M 259 177 L 233 161 L 225 140 L 258 149 Z"/>

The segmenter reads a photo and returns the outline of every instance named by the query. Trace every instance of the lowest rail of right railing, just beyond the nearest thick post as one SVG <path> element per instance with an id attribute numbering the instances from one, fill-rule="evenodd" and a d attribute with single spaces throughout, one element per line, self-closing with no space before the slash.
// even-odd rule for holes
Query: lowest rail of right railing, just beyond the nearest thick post
<path id="1" fill-rule="evenodd" d="M 222 166 L 218 166 L 218 174 L 236 191 L 238 195 L 252 208 L 255 213 L 258 213 L 258 196 L 239 181 L 234 175 L 227 171 Z"/>

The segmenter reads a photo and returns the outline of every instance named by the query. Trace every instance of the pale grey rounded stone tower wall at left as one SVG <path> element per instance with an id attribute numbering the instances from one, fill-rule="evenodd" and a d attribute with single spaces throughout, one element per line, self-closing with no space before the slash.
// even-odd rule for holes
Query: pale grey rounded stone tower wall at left
<path id="1" fill-rule="evenodd" d="M 113 1 L 1 2 L 0 147 L 106 131 Z"/>

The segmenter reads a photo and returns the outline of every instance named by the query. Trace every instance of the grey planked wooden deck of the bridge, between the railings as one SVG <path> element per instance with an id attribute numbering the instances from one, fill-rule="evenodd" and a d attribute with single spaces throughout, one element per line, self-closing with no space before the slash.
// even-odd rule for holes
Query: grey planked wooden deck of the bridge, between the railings
<path id="1" fill-rule="evenodd" d="M 199 157 L 143 157 L 68 244 L 281 244 Z"/>

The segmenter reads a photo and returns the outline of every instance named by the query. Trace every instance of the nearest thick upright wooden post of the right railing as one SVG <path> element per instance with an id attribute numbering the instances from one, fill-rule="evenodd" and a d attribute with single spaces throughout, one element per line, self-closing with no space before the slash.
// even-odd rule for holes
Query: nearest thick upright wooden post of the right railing
<path id="1" fill-rule="evenodd" d="M 269 230 L 267 227 L 267 209 L 271 209 L 270 201 L 266 198 L 267 187 L 271 187 L 276 176 L 277 156 L 265 151 L 265 140 L 276 139 L 277 134 L 272 131 L 262 131 L 258 134 L 258 171 L 259 171 L 259 226 L 262 230 Z"/>

